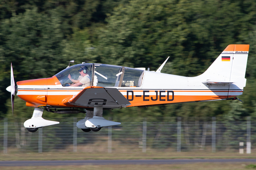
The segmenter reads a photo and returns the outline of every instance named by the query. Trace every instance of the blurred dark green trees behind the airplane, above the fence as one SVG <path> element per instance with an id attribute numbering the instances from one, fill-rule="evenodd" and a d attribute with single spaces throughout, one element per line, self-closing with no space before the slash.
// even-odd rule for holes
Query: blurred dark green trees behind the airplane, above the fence
<path id="1" fill-rule="evenodd" d="M 47 78 L 95 62 L 183 76 L 203 73 L 229 44 L 250 44 L 247 84 L 239 101 L 114 109 L 105 115 L 256 116 L 256 2 L 253 0 L 9 0 L 0 1 L 0 117 L 11 116 L 10 63 L 15 81 Z M 33 108 L 15 98 L 14 116 Z M 44 117 L 63 117 L 45 113 Z M 74 116 L 74 115 L 72 115 Z M 78 114 L 76 116 L 84 116 Z"/>

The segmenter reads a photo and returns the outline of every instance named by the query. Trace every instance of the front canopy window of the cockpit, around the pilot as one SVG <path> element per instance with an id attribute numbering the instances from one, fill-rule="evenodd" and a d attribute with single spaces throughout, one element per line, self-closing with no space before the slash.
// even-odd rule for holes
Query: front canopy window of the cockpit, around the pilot
<path id="1" fill-rule="evenodd" d="M 70 86 L 70 84 L 72 84 L 73 82 L 71 82 L 68 79 L 68 74 L 71 75 L 72 79 L 77 80 L 80 76 L 80 73 L 78 70 L 81 69 L 81 67 L 86 66 L 88 68 L 88 74 L 90 76 L 90 78 L 92 78 L 92 73 L 93 73 L 93 64 L 77 64 L 77 65 L 73 65 L 68 67 L 65 70 L 62 70 L 61 72 L 59 72 L 58 74 L 56 74 L 55 76 L 59 79 L 60 83 L 62 86 Z"/>

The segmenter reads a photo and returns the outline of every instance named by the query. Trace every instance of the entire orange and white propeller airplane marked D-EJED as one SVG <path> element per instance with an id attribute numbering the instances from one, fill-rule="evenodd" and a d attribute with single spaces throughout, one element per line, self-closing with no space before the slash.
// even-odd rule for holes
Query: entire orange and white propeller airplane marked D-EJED
<path id="1" fill-rule="evenodd" d="M 35 108 L 33 116 L 24 123 L 29 132 L 59 124 L 42 118 L 44 110 L 60 114 L 86 112 L 86 117 L 77 122 L 77 128 L 99 131 L 121 124 L 103 118 L 104 109 L 237 99 L 246 84 L 248 54 L 249 45 L 229 45 L 197 77 L 161 73 L 167 58 L 156 71 L 82 63 L 68 66 L 51 78 L 19 81 L 16 87 L 11 65 L 11 86 L 6 89 L 11 92 L 12 111 L 15 92 L 26 101 L 26 106 Z M 78 86 L 85 84 L 77 80 L 79 75 L 86 75 L 87 87 Z"/>

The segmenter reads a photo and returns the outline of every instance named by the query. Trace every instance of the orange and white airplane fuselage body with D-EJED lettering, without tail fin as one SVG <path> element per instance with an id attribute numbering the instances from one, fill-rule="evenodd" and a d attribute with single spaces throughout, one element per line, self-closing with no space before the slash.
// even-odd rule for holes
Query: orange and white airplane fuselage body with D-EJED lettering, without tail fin
<path id="1" fill-rule="evenodd" d="M 91 86 L 70 87 L 68 74 L 78 78 L 81 65 L 89 68 Z M 204 83 L 205 78 L 182 77 L 129 67 L 106 64 L 78 64 L 71 66 L 52 78 L 17 82 L 18 96 L 27 106 L 80 107 L 68 104 L 84 88 L 116 88 L 132 106 L 150 106 L 172 103 L 221 100 L 242 95 L 243 88 L 230 84 Z M 230 88 L 231 87 L 231 88 Z"/>

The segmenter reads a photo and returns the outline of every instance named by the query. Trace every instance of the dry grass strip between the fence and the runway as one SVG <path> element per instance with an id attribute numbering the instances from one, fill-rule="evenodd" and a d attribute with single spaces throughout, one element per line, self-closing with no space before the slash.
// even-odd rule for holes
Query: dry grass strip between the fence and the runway
<path id="1" fill-rule="evenodd" d="M 10 150 L 10 149 L 9 149 Z M 79 150 L 78 150 L 79 151 Z M 0 154 L 0 160 L 85 160 L 85 159 L 245 159 L 256 158 L 256 154 L 239 154 L 238 152 L 174 152 L 174 151 L 147 151 L 143 152 L 43 152 L 43 153 L 15 153 Z"/>

